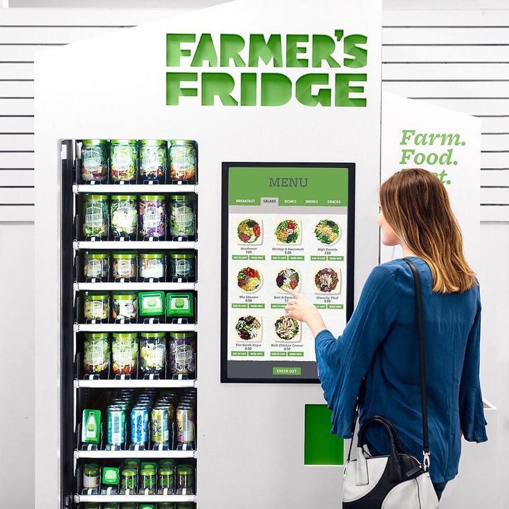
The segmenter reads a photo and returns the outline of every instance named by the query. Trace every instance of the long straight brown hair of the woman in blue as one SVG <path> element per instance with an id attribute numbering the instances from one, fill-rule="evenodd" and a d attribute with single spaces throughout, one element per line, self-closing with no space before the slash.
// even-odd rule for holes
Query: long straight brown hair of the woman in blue
<path id="1" fill-rule="evenodd" d="M 433 291 L 463 293 L 476 284 L 463 239 L 441 181 L 425 169 L 404 169 L 380 186 L 380 208 L 409 250 L 427 261 Z"/>

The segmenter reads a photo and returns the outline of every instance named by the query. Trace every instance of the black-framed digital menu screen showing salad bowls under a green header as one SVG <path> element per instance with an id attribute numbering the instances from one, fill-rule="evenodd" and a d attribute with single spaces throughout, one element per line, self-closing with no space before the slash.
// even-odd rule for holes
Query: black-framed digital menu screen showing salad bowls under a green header
<path id="1" fill-rule="evenodd" d="M 221 380 L 317 382 L 287 289 L 334 335 L 353 305 L 354 165 L 223 163 Z"/>

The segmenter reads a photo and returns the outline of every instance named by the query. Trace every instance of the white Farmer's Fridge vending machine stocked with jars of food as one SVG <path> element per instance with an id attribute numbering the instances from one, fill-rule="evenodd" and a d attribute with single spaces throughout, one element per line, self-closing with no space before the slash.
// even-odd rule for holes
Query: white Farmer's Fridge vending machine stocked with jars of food
<path id="1" fill-rule="evenodd" d="M 337 506 L 341 467 L 304 461 L 305 407 L 324 403 L 311 339 L 272 348 L 270 320 L 291 261 L 339 334 L 378 261 L 380 2 L 232 2 L 39 53 L 35 75 L 37 509 Z M 256 219 L 221 231 L 223 167 L 239 161 L 259 168 L 239 199 L 302 217 L 272 231 L 275 203 L 257 203 L 263 243 L 232 243 L 221 268 L 222 237 Z M 271 193 L 254 189 L 283 163 Z M 313 172 L 310 196 L 292 171 Z M 254 263 L 255 299 L 257 278 L 238 277 Z M 221 333 L 244 305 L 266 313 L 262 346 L 228 346 L 238 320 Z M 237 351 L 248 362 L 221 380 Z"/>

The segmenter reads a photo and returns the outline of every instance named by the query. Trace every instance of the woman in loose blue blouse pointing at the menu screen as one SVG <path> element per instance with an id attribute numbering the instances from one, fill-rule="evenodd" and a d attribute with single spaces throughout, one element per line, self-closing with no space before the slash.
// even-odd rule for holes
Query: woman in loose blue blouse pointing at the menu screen
<path id="1" fill-rule="evenodd" d="M 429 469 L 438 499 L 458 473 L 461 434 L 487 440 L 479 384 L 481 300 L 474 272 L 463 257 L 461 231 L 443 184 L 423 169 L 391 176 L 380 187 L 382 243 L 400 245 L 418 269 L 424 309 Z M 360 424 L 385 416 L 403 450 L 423 457 L 414 279 L 407 263 L 382 263 L 369 275 L 357 307 L 340 337 L 327 330 L 311 302 L 295 292 L 286 313 L 306 322 L 332 431 L 351 437 L 355 398 Z M 385 430 L 371 427 L 371 454 L 387 454 Z"/>

